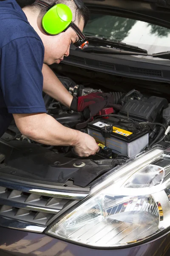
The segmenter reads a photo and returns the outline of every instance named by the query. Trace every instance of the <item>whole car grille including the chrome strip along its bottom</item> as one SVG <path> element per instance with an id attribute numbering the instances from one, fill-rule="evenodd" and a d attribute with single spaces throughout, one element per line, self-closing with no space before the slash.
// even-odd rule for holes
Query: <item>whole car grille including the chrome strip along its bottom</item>
<path id="1" fill-rule="evenodd" d="M 36 194 L 36 189 L 31 193 L 31 189 L 25 192 L 22 188 L 24 186 L 18 186 L 20 190 L 12 189 L 10 185 L 0 186 L 0 226 L 41 233 L 51 218 L 73 201 L 77 202 L 74 198 L 51 196 L 48 190 L 41 193 L 37 189 Z"/>

